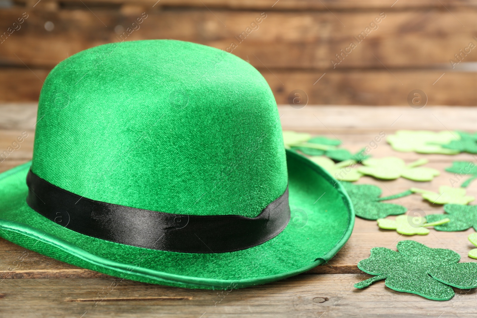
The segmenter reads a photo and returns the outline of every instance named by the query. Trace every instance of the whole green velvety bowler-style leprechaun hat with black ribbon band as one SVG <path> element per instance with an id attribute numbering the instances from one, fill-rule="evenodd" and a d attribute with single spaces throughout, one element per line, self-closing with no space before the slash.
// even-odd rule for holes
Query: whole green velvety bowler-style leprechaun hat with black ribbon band
<path id="1" fill-rule="evenodd" d="M 172 40 L 79 52 L 48 75 L 37 121 L 32 162 L 0 174 L 0 236 L 63 262 L 247 287 L 328 261 L 353 229 L 342 186 L 285 151 L 270 87 L 230 53 Z"/>

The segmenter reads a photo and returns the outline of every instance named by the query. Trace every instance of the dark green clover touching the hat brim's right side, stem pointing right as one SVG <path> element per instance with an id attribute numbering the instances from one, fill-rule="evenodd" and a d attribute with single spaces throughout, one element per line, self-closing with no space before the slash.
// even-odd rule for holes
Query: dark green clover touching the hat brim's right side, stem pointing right
<path id="1" fill-rule="evenodd" d="M 397 195 L 391 195 L 380 198 L 381 189 L 375 185 L 354 185 L 343 182 L 344 189 L 353 202 L 354 213 L 356 216 L 366 220 L 376 220 L 388 215 L 399 215 L 407 211 L 402 205 L 392 203 L 382 203 L 380 201 L 391 200 L 405 195 L 410 195 L 411 191 L 405 191 Z"/>

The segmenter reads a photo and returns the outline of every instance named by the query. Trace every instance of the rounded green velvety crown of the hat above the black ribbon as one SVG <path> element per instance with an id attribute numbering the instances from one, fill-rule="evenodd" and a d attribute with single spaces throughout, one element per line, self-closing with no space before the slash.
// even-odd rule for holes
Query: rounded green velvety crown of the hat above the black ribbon
<path id="1" fill-rule="evenodd" d="M 59 63 L 41 90 L 31 169 L 86 198 L 188 215 L 255 217 L 287 187 L 265 79 L 235 55 L 173 40 Z"/>

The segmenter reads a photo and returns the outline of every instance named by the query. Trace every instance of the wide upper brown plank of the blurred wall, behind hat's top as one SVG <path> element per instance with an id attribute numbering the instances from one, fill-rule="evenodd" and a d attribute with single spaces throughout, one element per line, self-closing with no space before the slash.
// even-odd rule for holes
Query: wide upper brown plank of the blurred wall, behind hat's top
<path id="1" fill-rule="evenodd" d="M 0 30 L 10 28 L 24 10 L 0 11 Z M 385 69 L 383 64 L 389 69 L 449 68 L 449 60 L 459 62 L 455 54 L 467 48 L 469 53 L 462 53 L 460 67 L 465 62 L 477 61 L 475 50 L 468 48 L 471 41 L 477 46 L 473 38 L 477 31 L 476 10 L 456 9 L 452 14 L 437 9 L 386 11 L 385 18 L 376 24 L 377 29 L 361 42 L 354 37 L 365 31 L 382 11 L 336 12 L 334 16 L 329 11 L 267 11 L 266 18 L 256 25 L 258 29 L 239 39 L 264 11 L 216 10 L 212 14 L 205 7 L 145 9 L 142 12 L 147 12 L 147 18 L 136 25 L 139 29 L 120 38 L 124 30 L 119 30 L 131 27 L 141 13 L 123 14 L 106 9 L 98 9 L 94 14 L 77 9 L 32 10 L 21 28 L 1 43 L 0 62 L 51 69 L 78 51 L 108 42 L 176 39 L 229 51 L 233 42 L 237 45 L 234 54 L 256 67 L 264 68 L 263 62 L 270 69 Z M 52 21 L 56 27 L 46 31 L 45 21 Z M 351 42 L 356 45 L 353 50 L 347 49 Z M 342 54 L 342 62 L 336 54 Z M 340 63 L 334 64 L 337 62 Z"/>

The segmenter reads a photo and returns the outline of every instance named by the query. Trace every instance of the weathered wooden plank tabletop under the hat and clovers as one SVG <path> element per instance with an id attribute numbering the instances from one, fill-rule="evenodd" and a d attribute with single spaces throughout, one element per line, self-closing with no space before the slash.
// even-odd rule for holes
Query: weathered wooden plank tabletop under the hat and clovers
<path id="1" fill-rule="evenodd" d="M 393 134 L 398 129 L 475 131 L 477 108 L 426 106 L 414 109 L 367 106 L 306 106 L 294 109 L 279 106 L 285 130 L 295 130 L 339 138 L 343 147 L 357 151 L 368 145 L 380 132 Z M 0 150 L 7 149 L 23 131 L 28 137 L 21 148 L 0 163 L 8 170 L 31 159 L 36 104 L 0 104 Z M 399 193 L 412 186 L 437 191 L 440 185 L 451 185 L 453 174 L 444 171 L 454 160 L 476 161 L 470 154 L 455 156 L 394 152 L 381 141 L 370 153 L 373 157 L 398 156 L 406 162 L 429 159 L 427 166 L 441 171 L 432 182 L 418 183 L 407 179 L 378 181 L 363 177 L 358 183 L 378 185 L 383 195 Z M 477 197 L 477 182 L 468 187 Z M 431 205 L 419 195 L 391 202 L 408 210 L 422 209 L 427 214 L 442 212 L 441 205 Z M 25 250 L 0 239 L 0 317 L 475 317 L 477 290 L 455 288 L 449 301 L 432 301 L 399 293 L 384 286 L 384 281 L 364 289 L 353 284 L 370 276 L 356 264 L 367 258 L 370 249 L 383 246 L 394 249 L 400 240 L 414 239 L 430 247 L 449 248 L 462 257 L 473 248 L 463 232 L 437 232 L 426 236 L 401 236 L 381 230 L 375 221 L 356 218 L 353 234 L 340 252 L 324 266 L 263 286 L 233 290 L 214 306 L 217 291 L 189 290 L 144 284 L 110 277 Z M 13 270 L 11 270 L 13 268 Z M 111 288 L 113 282 L 117 287 Z M 477 288 L 476 288 L 477 289 Z M 98 294 L 107 297 L 95 304 Z"/>

